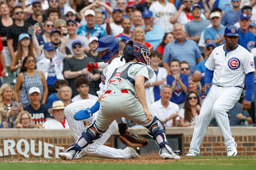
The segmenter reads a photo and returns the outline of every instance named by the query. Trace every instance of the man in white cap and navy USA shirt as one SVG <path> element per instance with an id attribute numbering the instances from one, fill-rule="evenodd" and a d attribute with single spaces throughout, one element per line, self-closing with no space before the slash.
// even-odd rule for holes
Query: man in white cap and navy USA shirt
<path id="1" fill-rule="evenodd" d="M 31 87 L 28 90 L 28 98 L 31 103 L 24 107 L 24 110 L 29 112 L 35 128 L 43 128 L 43 123 L 52 119 L 52 116 L 47 111 L 50 107 L 40 102 L 41 92 L 38 87 Z"/>

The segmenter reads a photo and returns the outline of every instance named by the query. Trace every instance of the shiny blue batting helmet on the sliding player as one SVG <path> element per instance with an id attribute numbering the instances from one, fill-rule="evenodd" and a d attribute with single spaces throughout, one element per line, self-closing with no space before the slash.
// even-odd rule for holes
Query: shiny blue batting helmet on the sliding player
<path id="1" fill-rule="evenodd" d="M 107 35 L 104 37 L 101 37 L 97 42 L 97 48 L 94 51 L 100 52 L 104 50 L 108 50 L 102 57 L 102 61 L 108 61 L 110 58 L 112 58 L 119 48 L 119 43 L 116 37 L 112 35 Z"/>

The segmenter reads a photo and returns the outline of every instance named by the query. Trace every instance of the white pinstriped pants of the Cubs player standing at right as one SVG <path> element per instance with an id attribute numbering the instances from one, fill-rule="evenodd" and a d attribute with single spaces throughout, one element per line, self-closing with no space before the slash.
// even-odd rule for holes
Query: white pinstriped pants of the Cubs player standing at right
<path id="1" fill-rule="evenodd" d="M 233 108 L 235 103 L 240 99 L 242 90 L 243 89 L 239 87 L 219 87 L 212 85 L 203 102 L 200 114 L 197 117 L 189 151 L 199 155 L 199 147 L 212 117 L 216 119 L 221 129 L 225 139 L 225 146 L 229 147 L 235 145 L 235 140 L 230 131 L 227 112 Z"/>

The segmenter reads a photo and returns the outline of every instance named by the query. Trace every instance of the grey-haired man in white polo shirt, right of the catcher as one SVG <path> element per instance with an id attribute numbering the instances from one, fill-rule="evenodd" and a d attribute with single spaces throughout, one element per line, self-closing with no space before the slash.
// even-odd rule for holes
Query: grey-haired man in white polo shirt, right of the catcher
<path id="1" fill-rule="evenodd" d="M 165 127 L 178 126 L 178 111 L 179 106 L 170 101 L 172 98 L 172 87 L 164 85 L 160 92 L 161 99 L 152 103 L 148 109 L 160 119 Z"/>

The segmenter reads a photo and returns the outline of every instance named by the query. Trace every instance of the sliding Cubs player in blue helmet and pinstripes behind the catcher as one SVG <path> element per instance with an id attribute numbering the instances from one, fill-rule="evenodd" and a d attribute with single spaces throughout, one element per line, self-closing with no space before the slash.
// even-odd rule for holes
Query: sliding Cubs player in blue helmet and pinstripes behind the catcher
<path id="1" fill-rule="evenodd" d="M 95 51 L 100 51 L 100 56 L 102 61 L 106 62 L 106 63 L 103 63 L 103 62 L 89 63 L 87 65 L 88 71 L 91 71 L 93 68 L 99 68 L 98 64 L 100 65 L 101 68 L 104 68 L 101 75 L 100 91 L 97 92 L 100 99 L 98 101 L 80 100 L 80 101 L 69 104 L 64 110 L 68 124 L 70 125 L 71 132 L 76 140 L 80 137 L 81 133 L 84 131 L 83 121 L 92 122 L 93 120 L 95 120 L 100 107 L 99 102 L 102 98 L 104 89 L 106 89 L 107 87 L 107 82 L 110 76 L 112 75 L 112 73 L 116 68 L 125 64 L 124 59 L 120 55 L 118 55 L 119 43 L 117 39 L 111 35 L 107 35 L 100 38 L 98 40 L 98 47 L 95 49 Z M 88 112 L 90 113 L 90 115 L 88 114 Z M 93 113 L 95 114 L 93 115 Z M 119 125 L 117 125 L 117 122 L 119 122 Z M 129 131 L 126 127 L 126 123 L 123 122 L 122 119 L 118 118 L 117 122 L 113 121 L 109 126 L 108 130 L 102 135 L 101 140 L 98 140 L 97 142 L 94 142 L 93 144 L 84 148 L 84 150 L 82 150 L 82 152 L 80 152 L 76 156 L 76 158 L 81 158 L 86 154 L 89 154 L 91 156 L 97 156 L 100 158 L 113 158 L 113 159 L 139 158 L 139 155 L 137 154 L 137 152 L 134 151 L 131 147 L 127 147 L 124 150 L 121 150 L 121 149 L 110 148 L 103 145 L 107 141 L 107 139 L 110 137 L 110 135 L 113 132 L 115 132 L 117 129 L 119 129 L 119 132 L 121 134 L 125 134 L 126 137 L 128 137 L 128 139 L 129 137 L 132 137 L 131 141 L 134 142 L 132 144 L 135 144 L 136 147 L 142 147 L 148 144 L 148 141 L 145 138 L 139 137 L 133 134 L 132 131 Z M 128 140 L 128 144 L 130 144 L 129 140 Z M 62 153 L 60 153 L 60 155 L 61 154 Z"/>

